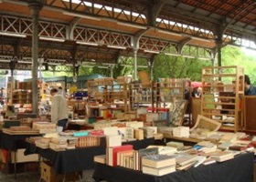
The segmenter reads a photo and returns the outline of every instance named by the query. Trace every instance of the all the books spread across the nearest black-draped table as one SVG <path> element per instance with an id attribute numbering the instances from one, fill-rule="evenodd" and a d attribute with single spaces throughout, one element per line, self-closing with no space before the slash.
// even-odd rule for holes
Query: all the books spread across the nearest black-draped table
<path id="1" fill-rule="evenodd" d="M 132 145 L 123 145 L 107 147 L 106 155 L 95 156 L 94 161 L 112 167 L 127 167 L 145 174 L 163 176 L 176 170 L 224 162 L 241 152 L 251 152 L 252 148 L 241 150 L 233 145 L 221 149 L 220 146 L 221 144 L 209 141 L 202 141 L 194 146 L 184 146 L 181 142 L 172 141 L 166 143 L 166 146 L 149 146 L 139 150 L 134 150 Z"/>

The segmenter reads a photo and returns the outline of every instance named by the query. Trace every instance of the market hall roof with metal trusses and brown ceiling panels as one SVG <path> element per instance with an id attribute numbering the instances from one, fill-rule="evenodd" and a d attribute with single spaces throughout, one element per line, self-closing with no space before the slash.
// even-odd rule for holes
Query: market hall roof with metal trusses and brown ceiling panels
<path id="1" fill-rule="evenodd" d="M 38 57 L 52 71 L 72 71 L 83 62 L 115 64 L 120 56 L 153 60 L 160 52 L 214 59 L 225 45 L 256 50 L 255 0 L 0 2 L 1 69 L 32 69 L 36 6 Z"/>

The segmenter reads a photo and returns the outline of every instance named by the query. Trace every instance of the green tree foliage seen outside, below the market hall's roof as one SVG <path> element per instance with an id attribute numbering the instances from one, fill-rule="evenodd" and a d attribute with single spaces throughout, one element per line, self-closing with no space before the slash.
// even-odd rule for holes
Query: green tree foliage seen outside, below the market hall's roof
<path id="1" fill-rule="evenodd" d="M 251 77 L 251 83 L 256 83 L 256 57 L 248 56 L 239 47 L 225 46 L 221 49 L 221 64 L 222 66 L 244 66 L 245 74 Z M 153 78 L 156 80 L 159 77 L 174 77 L 174 78 L 190 78 L 192 81 L 201 80 L 201 69 L 203 66 L 212 66 L 210 60 L 200 60 L 197 58 L 187 58 L 183 56 L 166 56 L 160 54 L 154 57 Z M 137 58 L 139 66 L 148 66 L 148 61 L 145 58 Z M 214 64 L 217 66 L 217 62 Z M 150 67 L 138 67 L 137 71 L 146 70 L 150 76 Z M 133 75 L 133 57 L 119 58 L 119 62 L 113 66 L 113 77 Z M 100 65 L 93 67 L 80 66 L 79 76 L 100 74 L 102 76 L 111 76 L 111 66 L 109 68 L 101 68 Z M 44 72 L 44 77 L 49 76 L 72 76 L 73 73 L 58 73 Z"/>

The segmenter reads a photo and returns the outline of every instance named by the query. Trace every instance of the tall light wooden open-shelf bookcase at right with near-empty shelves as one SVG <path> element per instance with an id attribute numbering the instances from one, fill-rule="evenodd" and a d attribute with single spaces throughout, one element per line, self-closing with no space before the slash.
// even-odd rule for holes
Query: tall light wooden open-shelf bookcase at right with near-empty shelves
<path id="1" fill-rule="evenodd" d="M 201 115 L 221 123 L 221 129 L 242 130 L 244 69 L 241 66 L 202 68 Z"/>

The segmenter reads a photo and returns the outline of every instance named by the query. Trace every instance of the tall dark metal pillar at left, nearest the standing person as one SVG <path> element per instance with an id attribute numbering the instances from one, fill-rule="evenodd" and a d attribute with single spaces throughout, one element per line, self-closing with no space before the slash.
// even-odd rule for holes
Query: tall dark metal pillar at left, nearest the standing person
<path id="1" fill-rule="evenodd" d="M 30 14 L 32 16 L 32 58 L 33 58 L 33 69 L 32 69 L 32 108 L 33 113 L 38 112 L 38 86 L 37 86 L 37 74 L 38 74 L 38 19 L 39 11 L 46 3 L 46 0 L 28 0 L 28 6 L 30 8 Z"/>

